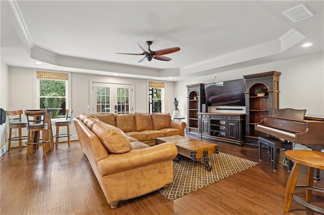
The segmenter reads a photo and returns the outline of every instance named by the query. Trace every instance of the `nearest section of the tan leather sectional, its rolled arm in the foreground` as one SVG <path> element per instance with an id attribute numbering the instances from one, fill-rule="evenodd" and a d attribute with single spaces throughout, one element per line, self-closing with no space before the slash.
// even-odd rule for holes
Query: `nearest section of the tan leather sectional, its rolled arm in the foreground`
<path id="1" fill-rule="evenodd" d="M 73 119 L 80 145 L 112 208 L 119 201 L 145 195 L 173 181 L 171 143 L 149 147 L 120 129 L 82 114 Z"/>

